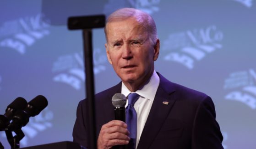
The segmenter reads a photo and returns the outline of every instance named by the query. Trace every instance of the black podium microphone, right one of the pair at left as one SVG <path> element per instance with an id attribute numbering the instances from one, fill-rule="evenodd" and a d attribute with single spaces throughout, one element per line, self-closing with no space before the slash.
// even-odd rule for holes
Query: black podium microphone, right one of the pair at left
<path id="1" fill-rule="evenodd" d="M 12 122 L 6 129 L 11 131 L 21 129 L 28 123 L 30 117 L 38 115 L 47 105 L 47 99 L 42 95 L 38 95 L 27 103 L 24 110 L 20 110 L 15 113 Z"/>

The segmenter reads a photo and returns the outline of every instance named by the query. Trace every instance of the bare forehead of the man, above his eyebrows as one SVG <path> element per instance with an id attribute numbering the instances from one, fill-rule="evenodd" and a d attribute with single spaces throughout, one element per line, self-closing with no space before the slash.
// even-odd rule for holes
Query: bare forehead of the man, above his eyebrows
<path id="1" fill-rule="evenodd" d="M 111 21 L 106 26 L 107 39 L 147 35 L 147 29 L 135 18 Z"/>

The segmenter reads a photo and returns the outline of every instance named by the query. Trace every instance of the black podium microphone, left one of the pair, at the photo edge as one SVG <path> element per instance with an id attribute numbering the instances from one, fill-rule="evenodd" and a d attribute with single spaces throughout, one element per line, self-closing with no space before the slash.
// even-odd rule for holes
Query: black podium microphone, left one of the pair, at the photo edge
<path id="1" fill-rule="evenodd" d="M 16 113 L 16 111 L 26 108 L 26 105 L 27 101 L 22 97 L 18 97 L 12 103 L 10 103 L 5 110 L 5 114 L 0 115 L 0 131 L 5 130 L 5 128 L 9 125 L 13 114 Z"/>

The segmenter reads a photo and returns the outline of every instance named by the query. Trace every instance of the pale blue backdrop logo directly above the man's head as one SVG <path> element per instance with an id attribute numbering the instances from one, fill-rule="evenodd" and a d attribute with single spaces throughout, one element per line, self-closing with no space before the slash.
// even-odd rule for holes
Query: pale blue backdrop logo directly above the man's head
<path id="1" fill-rule="evenodd" d="M 133 7 L 148 14 L 153 14 L 159 10 L 156 6 L 160 3 L 160 0 L 109 0 L 109 3 L 104 6 L 103 12 L 110 14 L 113 10 L 124 7 Z"/>

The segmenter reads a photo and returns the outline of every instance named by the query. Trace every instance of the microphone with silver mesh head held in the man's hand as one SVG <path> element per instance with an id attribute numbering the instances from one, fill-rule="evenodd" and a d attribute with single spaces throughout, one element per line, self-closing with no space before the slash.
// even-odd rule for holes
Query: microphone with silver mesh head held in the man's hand
<path id="1" fill-rule="evenodd" d="M 125 122 L 125 104 L 126 97 L 122 93 L 116 93 L 112 97 L 112 104 L 114 106 L 114 119 Z M 114 149 L 127 149 L 127 145 L 116 145 Z"/>

